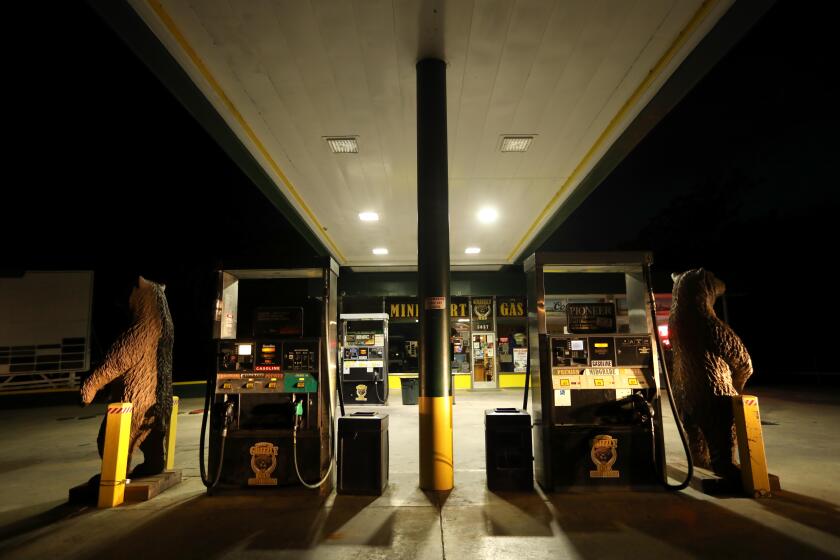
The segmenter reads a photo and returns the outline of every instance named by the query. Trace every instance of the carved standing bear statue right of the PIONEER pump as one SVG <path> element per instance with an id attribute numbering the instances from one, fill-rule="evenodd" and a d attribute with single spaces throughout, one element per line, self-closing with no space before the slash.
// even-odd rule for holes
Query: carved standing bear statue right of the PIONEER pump
<path id="1" fill-rule="evenodd" d="M 750 355 L 738 335 L 715 314 L 726 285 L 698 268 L 672 274 L 668 319 L 674 351 L 674 397 L 688 433 L 694 464 L 737 480 L 733 461 L 732 399 L 752 375 Z"/>

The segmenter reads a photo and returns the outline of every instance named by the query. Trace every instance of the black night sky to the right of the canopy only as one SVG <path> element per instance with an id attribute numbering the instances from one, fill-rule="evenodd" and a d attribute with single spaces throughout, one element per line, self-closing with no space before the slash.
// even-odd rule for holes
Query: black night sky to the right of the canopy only
<path id="1" fill-rule="evenodd" d="M 833 37 L 828 18 L 777 3 L 545 248 L 651 249 L 657 291 L 705 267 L 756 380 L 838 371 Z"/>

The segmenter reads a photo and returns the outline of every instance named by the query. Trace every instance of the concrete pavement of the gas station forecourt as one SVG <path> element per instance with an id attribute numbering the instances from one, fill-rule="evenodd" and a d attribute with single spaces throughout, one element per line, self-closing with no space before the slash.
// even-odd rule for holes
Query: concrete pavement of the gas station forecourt
<path id="1" fill-rule="evenodd" d="M 830 558 L 840 556 L 840 397 L 779 389 L 761 400 L 770 499 L 694 490 L 493 493 L 484 475 L 483 411 L 521 406 L 519 390 L 459 392 L 456 488 L 417 488 L 417 407 L 395 393 L 390 485 L 378 498 L 312 493 L 208 497 L 198 478 L 200 399 L 183 399 L 176 463 L 184 482 L 113 510 L 66 505 L 99 466 L 104 407 L 0 411 L 3 558 Z M 669 461 L 683 461 L 666 421 Z M 139 458 L 138 458 L 139 460 Z"/>

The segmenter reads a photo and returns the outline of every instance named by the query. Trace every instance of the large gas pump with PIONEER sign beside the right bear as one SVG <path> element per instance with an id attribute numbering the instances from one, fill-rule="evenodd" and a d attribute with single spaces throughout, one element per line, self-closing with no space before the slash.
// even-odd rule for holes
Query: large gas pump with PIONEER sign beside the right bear
<path id="1" fill-rule="evenodd" d="M 670 486 L 665 474 L 667 373 L 647 302 L 651 262 L 650 253 L 537 253 L 525 262 L 534 472 L 546 491 L 688 483 Z"/>

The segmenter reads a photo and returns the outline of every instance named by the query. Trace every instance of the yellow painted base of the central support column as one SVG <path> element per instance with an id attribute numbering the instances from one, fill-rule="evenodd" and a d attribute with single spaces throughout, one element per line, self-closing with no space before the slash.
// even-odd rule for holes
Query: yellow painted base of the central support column
<path id="1" fill-rule="evenodd" d="M 420 397 L 420 488 L 445 492 L 455 486 L 452 397 Z"/>

